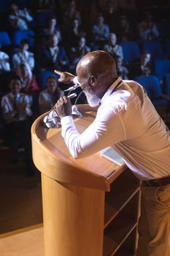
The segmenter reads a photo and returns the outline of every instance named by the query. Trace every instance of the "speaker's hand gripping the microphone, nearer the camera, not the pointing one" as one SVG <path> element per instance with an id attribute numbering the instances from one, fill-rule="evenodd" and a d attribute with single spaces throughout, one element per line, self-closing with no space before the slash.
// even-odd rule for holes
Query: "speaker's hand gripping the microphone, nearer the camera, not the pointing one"
<path id="1" fill-rule="evenodd" d="M 70 99 L 66 96 L 58 99 L 58 102 L 55 104 L 55 111 L 60 118 L 64 116 L 72 116 L 72 104 Z"/>

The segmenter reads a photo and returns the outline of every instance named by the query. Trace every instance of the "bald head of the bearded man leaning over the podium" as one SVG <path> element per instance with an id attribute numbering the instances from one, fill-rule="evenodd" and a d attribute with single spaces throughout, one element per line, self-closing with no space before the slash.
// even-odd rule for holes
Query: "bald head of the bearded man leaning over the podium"
<path id="1" fill-rule="evenodd" d="M 93 97 L 99 99 L 117 79 L 115 61 L 103 50 L 96 50 L 83 56 L 77 64 L 76 72 L 86 96 L 93 94 Z"/>

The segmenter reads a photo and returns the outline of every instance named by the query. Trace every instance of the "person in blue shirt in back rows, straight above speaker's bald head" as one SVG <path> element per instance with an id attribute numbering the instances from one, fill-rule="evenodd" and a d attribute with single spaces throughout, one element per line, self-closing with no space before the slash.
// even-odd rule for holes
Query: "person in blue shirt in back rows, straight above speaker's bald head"
<path id="1" fill-rule="evenodd" d="M 98 15 L 96 24 L 92 27 L 93 41 L 95 43 L 106 42 L 109 39 L 109 26 L 104 23 L 104 16 Z"/>

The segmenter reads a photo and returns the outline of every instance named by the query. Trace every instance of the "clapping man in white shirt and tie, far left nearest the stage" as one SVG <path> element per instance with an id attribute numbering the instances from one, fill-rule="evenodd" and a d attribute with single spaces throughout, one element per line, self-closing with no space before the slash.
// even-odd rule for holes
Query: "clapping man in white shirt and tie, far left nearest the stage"
<path id="1" fill-rule="evenodd" d="M 4 143 L 11 148 L 13 159 L 18 158 L 20 148 L 25 149 L 26 165 L 31 172 L 31 154 L 28 142 L 30 134 L 29 118 L 32 116 L 31 102 L 26 94 L 20 93 L 21 82 L 18 75 L 9 81 L 9 94 L 1 99 L 1 113 L 4 118 Z M 29 129 L 28 129 L 29 128 Z M 31 137 L 29 136 L 31 141 Z"/>

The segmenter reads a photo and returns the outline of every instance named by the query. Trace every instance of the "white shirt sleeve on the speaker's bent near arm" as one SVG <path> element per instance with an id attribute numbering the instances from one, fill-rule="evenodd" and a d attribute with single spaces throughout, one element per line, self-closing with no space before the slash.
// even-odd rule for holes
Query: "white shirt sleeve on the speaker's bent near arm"
<path id="1" fill-rule="evenodd" d="M 95 120 L 82 134 L 77 131 L 72 116 L 61 118 L 61 127 L 66 146 L 74 158 L 88 157 L 125 139 L 122 121 L 109 105 L 98 108 Z"/>

